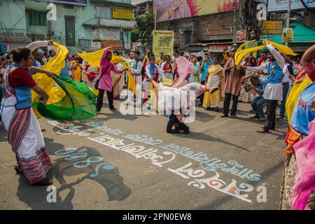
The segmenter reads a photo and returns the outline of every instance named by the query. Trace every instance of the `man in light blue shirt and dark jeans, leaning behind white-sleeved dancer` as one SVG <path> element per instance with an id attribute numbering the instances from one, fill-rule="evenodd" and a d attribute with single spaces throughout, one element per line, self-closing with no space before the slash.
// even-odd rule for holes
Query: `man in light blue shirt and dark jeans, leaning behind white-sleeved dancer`
<path id="1" fill-rule="evenodd" d="M 258 93 L 258 96 L 255 97 L 251 101 L 251 107 L 253 108 L 253 111 L 255 112 L 255 116 L 251 116 L 251 118 L 258 118 L 259 121 L 265 121 L 265 113 L 263 109 L 263 104 L 267 102 L 267 100 L 264 99 L 262 96 L 265 92 L 265 88 L 267 86 L 267 79 L 265 78 L 258 78 L 258 76 L 252 76 L 251 77 L 251 84 L 252 87 L 249 87 L 248 90 L 250 89 L 255 90 L 255 92 Z"/>

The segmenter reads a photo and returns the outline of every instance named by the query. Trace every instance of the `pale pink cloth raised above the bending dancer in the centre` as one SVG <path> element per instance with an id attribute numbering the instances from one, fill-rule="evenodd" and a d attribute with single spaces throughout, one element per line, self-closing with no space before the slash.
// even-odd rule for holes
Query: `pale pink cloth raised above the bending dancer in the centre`
<path id="1" fill-rule="evenodd" d="M 179 72 L 179 79 L 176 80 L 176 83 L 174 83 L 174 85 L 172 87 L 174 88 L 180 88 L 183 87 L 184 85 L 187 84 L 186 82 L 186 78 L 188 76 L 188 74 L 192 74 L 193 73 L 193 69 L 191 67 L 190 62 L 188 61 L 188 59 L 186 59 L 186 57 L 178 57 L 176 58 L 176 64 L 177 64 L 177 71 Z"/>

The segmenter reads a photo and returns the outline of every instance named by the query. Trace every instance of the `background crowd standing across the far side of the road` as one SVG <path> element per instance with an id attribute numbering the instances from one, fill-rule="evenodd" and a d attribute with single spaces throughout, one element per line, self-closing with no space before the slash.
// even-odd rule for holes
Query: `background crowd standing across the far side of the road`
<path id="1" fill-rule="evenodd" d="M 27 46 L 31 49 L 33 56 L 32 66 L 41 67 L 56 55 L 55 48 L 47 48 L 49 41 L 35 41 Z M 51 44 L 50 44 L 51 45 Z M 253 56 L 253 52 L 244 57 L 240 66 L 235 65 L 234 55 L 237 45 L 233 45 L 228 51 L 223 52 L 223 57 L 210 57 L 209 52 L 204 52 L 202 56 L 197 56 L 191 52 L 185 53 L 190 63 L 191 72 L 179 85 L 179 68 L 176 59 L 181 55 L 178 50 L 174 54 L 155 57 L 151 50 L 141 59 L 138 50 L 131 51 L 126 58 L 130 63 L 130 73 L 137 86 L 137 92 L 141 92 L 141 97 L 136 98 L 128 95 L 127 102 L 135 106 L 141 106 L 150 98 L 151 82 L 148 78 L 153 78 L 156 82 L 161 82 L 167 78 L 172 82 L 172 86 L 183 87 L 188 83 L 200 83 L 208 87 L 217 87 L 215 92 L 204 92 L 199 97 L 199 106 L 213 111 L 222 111 L 222 118 L 229 117 L 230 101 L 232 100 L 231 118 L 236 118 L 238 102 L 251 103 L 251 119 L 258 119 L 265 122 L 265 125 L 258 132 L 266 133 L 274 130 L 276 120 L 283 120 L 286 114 L 286 99 L 290 93 L 293 83 L 300 83 L 302 80 L 297 76 L 303 72 L 300 57 L 292 58 L 290 55 L 281 55 L 272 45 L 267 44 L 267 48 L 258 52 L 258 57 Z M 119 55 L 118 52 L 107 51 L 102 57 L 101 66 L 92 67 L 90 64 L 77 55 L 67 55 L 65 66 L 60 73 L 60 77 L 72 78 L 75 81 L 86 83 L 92 88 L 99 90 L 97 109 L 101 111 L 103 97 L 106 92 L 109 99 L 109 109 L 116 110 L 113 99 L 120 99 L 120 93 L 124 85 L 128 85 L 127 69 L 123 64 L 111 64 L 111 54 Z M 200 55 L 200 54 L 199 54 Z M 12 63 L 10 53 L 1 57 L 0 75 L 3 77 L 4 71 Z M 275 75 L 268 78 L 270 73 Z M 33 75 L 34 73 L 30 73 Z M 97 86 L 96 86 L 97 82 Z M 177 83 L 177 85 L 176 85 Z M 223 109 L 219 108 L 223 102 Z M 276 107 L 281 102 L 279 115 L 276 117 Z M 265 108 L 265 110 L 264 110 Z M 169 125 L 168 125 L 169 127 Z M 170 130 L 167 129 L 167 132 Z M 187 133 L 187 132 L 186 132 Z"/>

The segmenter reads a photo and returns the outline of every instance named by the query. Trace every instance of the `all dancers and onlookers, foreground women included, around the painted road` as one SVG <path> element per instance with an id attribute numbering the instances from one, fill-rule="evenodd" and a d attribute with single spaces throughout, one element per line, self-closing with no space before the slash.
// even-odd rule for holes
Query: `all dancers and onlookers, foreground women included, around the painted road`
<path id="1" fill-rule="evenodd" d="M 106 48 L 98 67 L 92 67 L 84 59 L 68 54 L 59 76 L 84 82 L 98 90 L 99 112 L 103 107 L 105 92 L 109 109 L 116 110 L 113 99 L 120 98 L 124 85 L 129 87 L 129 79 L 133 78 L 141 97 L 136 97 L 134 101 L 134 96 L 129 94 L 125 105 L 146 104 L 152 97 L 152 87 L 156 91 L 164 91 L 163 94 L 195 91 L 199 106 L 207 110 L 221 111 L 219 105 L 223 102 L 221 118 L 236 118 L 238 102 L 251 102 L 253 116 L 250 118 L 265 122 L 257 130 L 258 133 L 275 130 L 276 120 L 283 120 L 288 113 L 288 148 L 281 186 L 281 209 L 315 209 L 315 45 L 301 59 L 283 55 L 271 43 L 264 43 L 266 48 L 258 52 L 259 56 L 255 57 L 251 52 L 240 64 L 235 62 L 237 45 L 223 52 L 223 59 L 210 57 L 209 52 L 202 56 L 194 53 L 182 56 L 178 50 L 174 50 L 172 56 L 160 53 L 158 58 L 148 50 L 141 59 L 143 55 L 134 50 L 128 58 L 124 58 L 125 64 L 113 64 L 113 54 L 118 55 L 118 52 Z M 47 53 L 41 48 L 47 48 Z M 47 176 L 52 162 L 31 109 L 31 90 L 43 97 L 43 103 L 48 101 L 47 92 L 34 82 L 32 75 L 45 73 L 50 77 L 55 76 L 41 67 L 56 54 L 52 41 L 36 41 L 26 48 L 18 48 L 1 56 L 1 120 L 18 161 L 15 170 L 23 172 L 31 184 L 52 183 Z M 168 85 L 165 84 L 166 80 L 169 80 Z M 290 102 L 286 103 L 287 99 Z M 277 106 L 280 106 L 279 116 L 276 116 Z M 172 111 L 169 114 L 168 133 L 190 133 L 190 128 L 183 123 L 185 116 L 181 112 Z M 305 153 L 308 153 L 306 158 L 303 157 Z M 28 169 L 29 166 L 32 169 Z"/>

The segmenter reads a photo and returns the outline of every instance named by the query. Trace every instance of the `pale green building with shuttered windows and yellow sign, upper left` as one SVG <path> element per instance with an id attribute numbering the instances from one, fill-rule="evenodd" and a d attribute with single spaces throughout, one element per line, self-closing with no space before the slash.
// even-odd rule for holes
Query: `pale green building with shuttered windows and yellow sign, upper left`
<path id="1" fill-rule="evenodd" d="M 130 50 L 130 31 L 134 29 L 131 0 L 51 1 L 53 5 L 45 0 L 0 2 L 0 42 L 11 48 L 52 39 L 66 45 L 71 52 L 108 45 L 113 50 Z M 12 35 L 24 39 L 17 38 L 13 43 L 5 38 Z"/>

